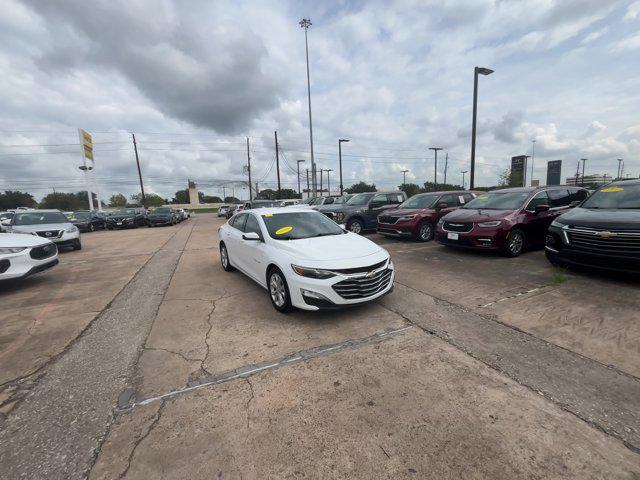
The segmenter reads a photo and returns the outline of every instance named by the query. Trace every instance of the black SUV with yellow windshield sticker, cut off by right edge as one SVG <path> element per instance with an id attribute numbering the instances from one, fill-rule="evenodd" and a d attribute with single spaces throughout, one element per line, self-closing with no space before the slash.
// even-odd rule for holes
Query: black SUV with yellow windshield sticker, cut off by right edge
<path id="1" fill-rule="evenodd" d="M 554 265 L 640 272 L 640 180 L 610 183 L 556 218 L 545 241 Z"/>

